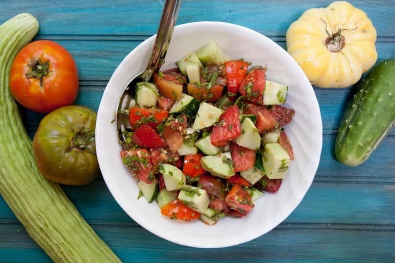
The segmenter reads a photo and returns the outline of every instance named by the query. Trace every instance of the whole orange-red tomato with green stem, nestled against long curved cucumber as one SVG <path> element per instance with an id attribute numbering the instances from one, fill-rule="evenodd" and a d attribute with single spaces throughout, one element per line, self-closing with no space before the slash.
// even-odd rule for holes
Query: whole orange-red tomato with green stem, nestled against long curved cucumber
<path id="1" fill-rule="evenodd" d="M 9 74 L 12 96 L 25 108 L 49 113 L 71 105 L 77 98 L 79 79 L 76 63 L 58 43 L 38 40 L 16 55 Z"/>

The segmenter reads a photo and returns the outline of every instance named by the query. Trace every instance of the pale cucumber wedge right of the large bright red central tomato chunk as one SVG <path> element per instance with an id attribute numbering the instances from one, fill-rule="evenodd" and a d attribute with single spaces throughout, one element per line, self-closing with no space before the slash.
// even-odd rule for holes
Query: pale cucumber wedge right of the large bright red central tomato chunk
<path id="1" fill-rule="evenodd" d="M 250 118 L 244 118 L 241 123 L 241 135 L 236 138 L 237 145 L 257 150 L 261 146 L 261 136 Z"/>

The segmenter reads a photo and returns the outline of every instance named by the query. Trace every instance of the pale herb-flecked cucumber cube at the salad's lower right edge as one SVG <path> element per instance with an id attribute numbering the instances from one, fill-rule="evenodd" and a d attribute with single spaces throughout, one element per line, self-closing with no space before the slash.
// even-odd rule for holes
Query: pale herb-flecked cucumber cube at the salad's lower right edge
<path id="1" fill-rule="evenodd" d="M 279 144 L 266 144 L 262 162 L 269 179 L 282 179 L 288 171 L 291 158 Z"/>

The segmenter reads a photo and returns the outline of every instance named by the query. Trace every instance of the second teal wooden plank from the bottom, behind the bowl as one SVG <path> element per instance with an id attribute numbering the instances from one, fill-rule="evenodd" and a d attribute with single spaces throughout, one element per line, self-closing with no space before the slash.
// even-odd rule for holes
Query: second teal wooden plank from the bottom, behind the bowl
<path id="1" fill-rule="evenodd" d="M 83 189 L 70 186 L 64 189 L 83 218 L 90 223 L 133 222 L 114 200 L 104 181 L 96 180 Z M 369 224 L 395 227 L 394 203 L 395 184 L 317 182 L 313 183 L 302 203 L 285 223 Z M 2 198 L 0 219 L 9 223 L 16 222 L 15 216 Z"/>

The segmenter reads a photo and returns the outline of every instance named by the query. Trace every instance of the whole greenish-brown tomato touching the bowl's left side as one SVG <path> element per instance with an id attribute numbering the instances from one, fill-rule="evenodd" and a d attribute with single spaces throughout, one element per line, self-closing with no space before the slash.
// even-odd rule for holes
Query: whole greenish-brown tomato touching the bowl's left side
<path id="1" fill-rule="evenodd" d="M 33 139 L 40 173 L 65 185 L 86 185 L 99 174 L 95 147 L 96 113 L 77 105 L 47 114 Z"/>

